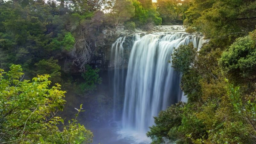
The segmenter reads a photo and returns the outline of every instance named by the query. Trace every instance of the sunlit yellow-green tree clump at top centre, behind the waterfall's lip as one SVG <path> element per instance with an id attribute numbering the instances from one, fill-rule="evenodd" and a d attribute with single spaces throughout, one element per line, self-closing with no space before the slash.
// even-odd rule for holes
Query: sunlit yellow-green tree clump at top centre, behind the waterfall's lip
<path id="1" fill-rule="evenodd" d="M 116 29 L 125 22 L 126 24 L 135 22 L 136 27 L 143 29 L 148 29 L 148 26 L 151 28 L 152 24 L 161 25 L 162 23 L 162 19 L 158 17 L 159 13 L 156 11 L 156 7 L 150 1 L 116 0 L 109 15 Z"/>

